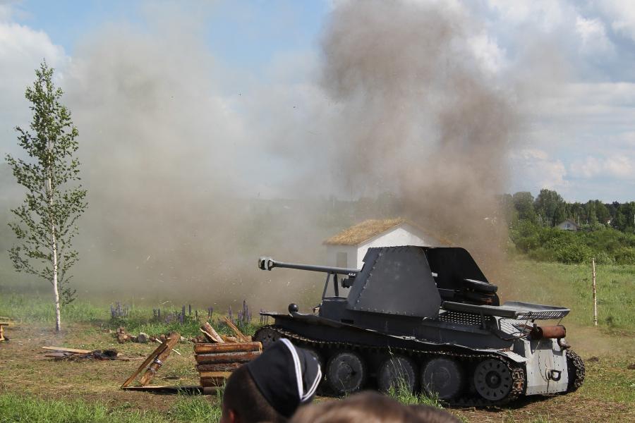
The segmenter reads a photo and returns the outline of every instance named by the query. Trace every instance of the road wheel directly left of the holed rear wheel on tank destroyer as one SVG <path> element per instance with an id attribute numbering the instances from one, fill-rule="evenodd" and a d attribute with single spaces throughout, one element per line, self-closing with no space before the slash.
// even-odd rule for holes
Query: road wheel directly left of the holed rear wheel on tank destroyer
<path id="1" fill-rule="evenodd" d="M 437 394 L 440 400 L 454 398 L 463 384 L 463 370 L 451 358 L 433 358 L 421 371 L 421 386 L 430 395 Z"/>

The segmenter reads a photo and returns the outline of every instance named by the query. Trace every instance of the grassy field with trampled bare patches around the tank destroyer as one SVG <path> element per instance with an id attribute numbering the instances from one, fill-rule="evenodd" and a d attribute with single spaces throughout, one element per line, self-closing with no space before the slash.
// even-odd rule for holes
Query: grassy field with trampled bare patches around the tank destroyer
<path id="1" fill-rule="evenodd" d="M 593 327 L 590 266 L 516 259 L 503 274 L 497 283 L 504 299 L 571 308 L 563 323 L 567 341 L 586 362 L 586 381 L 575 393 L 521 400 L 504 410 L 450 411 L 464 422 L 635 420 L 635 370 L 630 369 L 635 364 L 635 266 L 598 266 L 598 328 Z M 194 336 L 199 333 L 198 322 L 189 314 L 183 324 L 165 322 L 155 318 L 152 309 L 157 306 L 135 305 L 126 317 L 111 319 L 109 303 L 80 299 L 64 309 L 63 331 L 55 334 L 47 297 L 9 293 L 3 288 L 0 286 L 0 319 L 11 318 L 14 324 L 8 329 L 11 342 L 0 343 L 0 423 L 217 421 L 217 396 L 166 396 L 119 389 L 155 347 L 118 344 L 111 330 L 123 324 L 129 333 L 176 330 Z M 199 315 L 207 318 L 205 311 L 199 310 Z M 217 317 L 214 314 L 212 323 Z M 243 329 L 253 332 L 255 326 Z M 42 356 L 43 345 L 116 348 L 131 361 L 52 362 Z M 198 384 L 191 343 L 180 343 L 177 349 L 181 355 L 169 357 L 155 384 Z M 405 403 L 430 402 L 430 398 L 394 395 Z"/>

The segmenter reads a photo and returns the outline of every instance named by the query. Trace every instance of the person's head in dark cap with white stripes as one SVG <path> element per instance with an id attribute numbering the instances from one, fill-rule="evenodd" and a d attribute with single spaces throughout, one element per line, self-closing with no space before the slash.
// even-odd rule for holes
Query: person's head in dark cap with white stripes
<path id="1" fill-rule="evenodd" d="M 229 376 L 221 423 L 286 422 L 313 399 L 322 379 L 317 359 L 288 339 L 273 343 Z"/>

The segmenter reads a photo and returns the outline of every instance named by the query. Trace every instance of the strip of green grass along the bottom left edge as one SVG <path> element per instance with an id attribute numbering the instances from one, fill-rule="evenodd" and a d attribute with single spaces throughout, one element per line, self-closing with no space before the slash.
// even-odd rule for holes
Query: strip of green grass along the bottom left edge
<path id="1" fill-rule="evenodd" d="M 164 423 L 217 422 L 220 402 L 203 396 L 181 396 L 167 412 L 131 410 L 130 405 L 108 407 L 82 399 L 47 400 L 0 394 L 0 423 Z"/>

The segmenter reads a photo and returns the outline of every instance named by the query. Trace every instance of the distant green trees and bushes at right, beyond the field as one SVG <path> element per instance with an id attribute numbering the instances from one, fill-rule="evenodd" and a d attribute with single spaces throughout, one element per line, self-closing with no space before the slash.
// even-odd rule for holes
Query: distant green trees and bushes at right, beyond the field
<path id="1" fill-rule="evenodd" d="M 552 190 L 503 195 L 509 238 L 532 259 L 598 264 L 635 264 L 635 202 L 565 202 Z M 581 231 L 556 226 L 571 219 Z"/>

